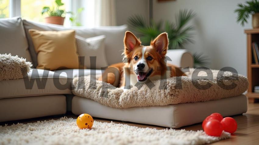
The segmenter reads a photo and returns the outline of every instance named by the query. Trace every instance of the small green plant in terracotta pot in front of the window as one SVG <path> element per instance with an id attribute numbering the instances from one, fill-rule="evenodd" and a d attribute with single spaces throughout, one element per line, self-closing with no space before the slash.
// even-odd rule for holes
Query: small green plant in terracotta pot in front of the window
<path id="1" fill-rule="evenodd" d="M 41 14 L 48 14 L 48 17 L 44 18 L 46 23 L 63 25 L 65 20 L 65 11 L 60 10 L 59 6 L 64 4 L 61 2 L 61 0 L 56 0 L 55 3 L 57 4 L 56 8 L 53 7 L 51 9 L 49 7 L 44 7 L 41 11 Z"/>

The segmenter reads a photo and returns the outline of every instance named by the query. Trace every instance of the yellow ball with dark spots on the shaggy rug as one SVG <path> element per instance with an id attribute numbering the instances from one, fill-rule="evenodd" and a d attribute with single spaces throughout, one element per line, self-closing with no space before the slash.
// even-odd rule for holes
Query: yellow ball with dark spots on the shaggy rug
<path id="1" fill-rule="evenodd" d="M 91 129 L 93 124 L 94 124 L 94 119 L 92 118 L 91 115 L 86 113 L 79 115 L 78 118 L 76 119 L 76 125 L 80 129 Z"/>

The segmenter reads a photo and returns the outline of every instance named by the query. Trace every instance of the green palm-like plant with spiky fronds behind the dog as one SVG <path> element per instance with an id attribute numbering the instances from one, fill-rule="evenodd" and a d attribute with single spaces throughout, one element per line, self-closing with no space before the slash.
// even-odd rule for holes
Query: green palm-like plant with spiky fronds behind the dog
<path id="1" fill-rule="evenodd" d="M 193 26 L 187 25 L 191 19 L 195 17 L 193 11 L 180 10 L 176 15 L 176 23 L 170 23 L 166 21 L 163 26 L 163 22 L 155 23 L 151 20 L 150 24 L 147 24 L 143 16 L 134 15 L 128 19 L 130 28 L 140 37 L 143 45 L 149 45 L 150 41 L 156 38 L 160 33 L 167 32 L 169 38 L 169 49 L 184 49 L 184 44 L 193 42 Z M 170 50 L 169 50 L 170 51 Z M 208 57 L 204 57 L 202 53 L 195 53 L 194 67 L 207 66 Z"/>

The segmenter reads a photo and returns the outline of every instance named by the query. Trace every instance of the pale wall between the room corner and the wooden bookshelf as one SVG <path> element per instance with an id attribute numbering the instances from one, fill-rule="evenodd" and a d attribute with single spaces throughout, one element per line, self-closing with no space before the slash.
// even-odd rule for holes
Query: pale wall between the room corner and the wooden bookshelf
<path id="1" fill-rule="evenodd" d="M 154 20 L 175 21 L 180 9 L 192 9 L 197 16 L 191 24 L 195 26 L 195 42 L 186 45 L 192 52 L 209 56 L 211 69 L 233 67 L 238 73 L 247 75 L 247 48 L 244 29 L 252 28 L 251 19 L 245 27 L 236 23 L 237 4 L 246 0 L 176 0 L 158 2 L 154 0 Z"/>

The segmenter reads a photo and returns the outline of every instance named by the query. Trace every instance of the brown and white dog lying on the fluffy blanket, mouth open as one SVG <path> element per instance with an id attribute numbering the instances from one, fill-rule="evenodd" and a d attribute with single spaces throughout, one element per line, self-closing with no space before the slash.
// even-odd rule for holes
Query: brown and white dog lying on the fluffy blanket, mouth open
<path id="1" fill-rule="evenodd" d="M 130 31 L 124 37 L 125 63 L 109 66 L 98 80 L 110 83 L 115 87 L 134 86 L 137 82 L 154 81 L 173 76 L 185 76 L 176 66 L 166 64 L 165 55 L 168 49 L 167 33 L 158 35 L 150 46 L 142 46 L 140 40 Z M 167 71 L 168 68 L 172 69 Z M 127 78 L 129 78 L 126 82 Z M 129 87 L 129 86 L 127 86 Z"/>

